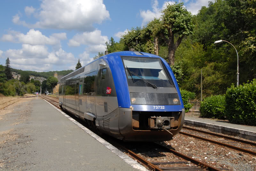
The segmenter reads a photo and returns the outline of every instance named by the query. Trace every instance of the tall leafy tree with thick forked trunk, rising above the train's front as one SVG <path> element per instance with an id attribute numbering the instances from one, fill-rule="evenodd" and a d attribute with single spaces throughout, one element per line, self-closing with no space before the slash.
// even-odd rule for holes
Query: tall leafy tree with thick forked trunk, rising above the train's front
<path id="1" fill-rule="evenodd" d="M 183 7 L 184 3 L 168 4 L 162 11 L 162 26 L 167 29 L 167 37 L 163 32 L 160 36 L 168 46 L 169 65 L 174 65 L 175 50 L 179 47 L 183 37 L 193 33 L 192 14 Z M 174 42 L 174 35 L 178 40 Z"/>

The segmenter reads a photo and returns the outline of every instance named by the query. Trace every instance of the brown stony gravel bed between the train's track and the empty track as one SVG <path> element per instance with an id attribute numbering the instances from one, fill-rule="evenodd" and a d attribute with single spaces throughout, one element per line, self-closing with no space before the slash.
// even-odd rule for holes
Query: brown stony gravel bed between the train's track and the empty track
<path id="1" fill-rule="evenodd" d="M 164 143 L 178 152 L 182 152 L 220 169 L 255 171 L 256 168 L 256 157 L 254 156 L 181 134 L 176 135 L 173 140 L 165 141 Z M 256 148 L 253 151 L 256 151 Z"/>

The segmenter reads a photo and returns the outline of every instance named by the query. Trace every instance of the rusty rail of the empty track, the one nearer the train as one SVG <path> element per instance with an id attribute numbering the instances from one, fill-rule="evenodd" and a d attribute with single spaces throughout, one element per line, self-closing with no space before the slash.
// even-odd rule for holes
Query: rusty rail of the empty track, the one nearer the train
<path id="1" fill-rule="evenodd" d="M 224 146 L 224 147 L 236 150 L 236 151 L 245 152 L 245 153 L 251 154 L 253 156 L 256 156 L 256 152 L 253 152 L 251 150 L 246 150 L 244 148 L 236 147 L 234 145 L 229 145 L 229 144 L 226 144 L 226 143 L 221 143 L 221 142 L 218 142 L 218 141 L 215 141 L 215 140 L 211 140 L 211 139 L 204 138 L 204 137 L 199 137 L 199 136 L 192 135 L 192 134 L 189 134 L 189 133 L 186 133 L 186 132 L 182 132 L 182 131 L 180 131 L 180 134 L 183 134 L 183 135 L 186 135 L 188 137 L 193 137 L 193 138 L 196 138 L 196 139 L 200 139 L 200 140 L 203 140 L 203 141 L 210 142 L 212 144 L 217 144 L 217 145 Z"/>

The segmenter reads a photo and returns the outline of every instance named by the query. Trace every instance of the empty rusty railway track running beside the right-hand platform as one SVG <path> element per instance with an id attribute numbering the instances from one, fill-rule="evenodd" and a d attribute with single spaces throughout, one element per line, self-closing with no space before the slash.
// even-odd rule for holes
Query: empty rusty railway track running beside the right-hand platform
<path id="1" fill-rule="evenodd" d="M 256 143 L 183 126 L 180 134 L 256 156 Z M 214 140 L 218 138 L 218 141 Z"/>

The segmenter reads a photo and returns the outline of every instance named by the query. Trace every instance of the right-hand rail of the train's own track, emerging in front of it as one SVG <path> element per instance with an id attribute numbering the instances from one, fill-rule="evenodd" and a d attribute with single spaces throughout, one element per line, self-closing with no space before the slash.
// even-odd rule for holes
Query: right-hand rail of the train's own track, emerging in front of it
<path id="1" fill-rule="evenodd" d="M 181 152 L 177 152 L 175 150 L 172 150 L 164 145 L 161 145 L 161 144 L 158 144 L 156 143 L 157 145 L 160 145 L 161 147 L 164 147 L 167 151 L 171 152 L 172 154 L 174 154 L 175 156 L 177 157 L 180 157 L 184 160 L 187 160 L 187 161 L 190 161 L 191 163 L 195 164 L 195 165 L 198 165 L 198 166 L 203 166 L 203 167 L 206 167 L 209 171 L 221 171 L 220 169 L 216 168 L 216 167 L 212 167 L 211 165 L 208 165 L 207 163 L 204 163 L 202 161 L 199 161 L 199 160 L 196 160 L 196 159 L 193 159 L 192 157 L 189 157 L 188 155 L 185 155 L 185 154 L 182 154 Z"/>

